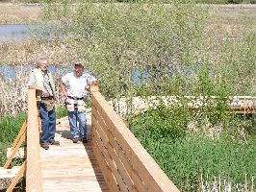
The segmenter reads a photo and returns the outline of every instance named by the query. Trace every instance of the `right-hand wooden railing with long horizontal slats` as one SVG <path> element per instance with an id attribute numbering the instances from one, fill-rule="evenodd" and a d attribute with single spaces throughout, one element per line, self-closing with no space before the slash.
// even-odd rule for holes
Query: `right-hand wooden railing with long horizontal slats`
<path id="1" fill-rule="evenodd" d="M 91 88 L 92 150 L 111 192 L 176 192 L 97 87 Z"/>

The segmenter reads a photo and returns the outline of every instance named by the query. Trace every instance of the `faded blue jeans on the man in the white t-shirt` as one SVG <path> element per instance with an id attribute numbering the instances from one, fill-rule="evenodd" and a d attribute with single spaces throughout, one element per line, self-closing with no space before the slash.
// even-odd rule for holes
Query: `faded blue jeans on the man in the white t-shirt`
<path id="1" fill-rule="evenodd" d="M 67 111 L 70 132 L 73 138 L 83 138 L 87 136 L 87 117 L 85 112 Z M 79 125 L 78 125 L 79 123 Z"/>

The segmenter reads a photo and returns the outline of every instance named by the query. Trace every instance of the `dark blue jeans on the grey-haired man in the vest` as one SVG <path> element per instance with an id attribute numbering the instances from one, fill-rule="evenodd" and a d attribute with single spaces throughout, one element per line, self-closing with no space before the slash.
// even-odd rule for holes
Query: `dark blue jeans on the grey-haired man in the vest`
<path id="1" fill-rule="evenodd" d="M 55 108 L 46 110 L 45 104 L 39 105 L 39 116 L 41 119 L 41 143 L 51 143 L 54 141 L 56 132 Z"/>

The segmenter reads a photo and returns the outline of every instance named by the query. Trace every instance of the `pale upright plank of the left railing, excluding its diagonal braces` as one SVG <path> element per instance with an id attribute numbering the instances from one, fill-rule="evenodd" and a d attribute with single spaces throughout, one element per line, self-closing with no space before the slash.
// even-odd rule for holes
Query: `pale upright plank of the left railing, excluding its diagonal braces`
<path id="1" fill-rule="evenodd" d="M 38 108 L 35 89 L 28 90 L 26 191 L 42 191 L 38 132 Z"/>

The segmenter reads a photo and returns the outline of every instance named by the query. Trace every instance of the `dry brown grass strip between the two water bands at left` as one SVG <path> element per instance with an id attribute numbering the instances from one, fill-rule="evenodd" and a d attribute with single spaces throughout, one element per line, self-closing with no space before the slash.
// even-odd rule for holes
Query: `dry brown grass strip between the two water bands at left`
<path id="1" fill-rule="evenodd" d="M 64 39 L 41 42 L 34 38 L 20 43 L 7 42 L 0 45 L 0 63 L 30 64 L 38 55 L 46 55 L 54 64 L 67 65 L 77 58 L 75 46 Z"/>

